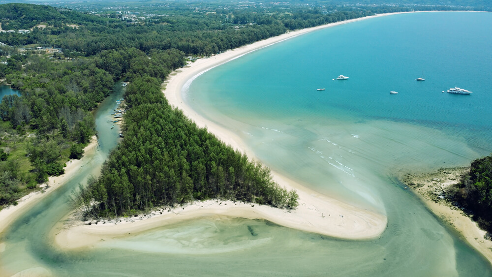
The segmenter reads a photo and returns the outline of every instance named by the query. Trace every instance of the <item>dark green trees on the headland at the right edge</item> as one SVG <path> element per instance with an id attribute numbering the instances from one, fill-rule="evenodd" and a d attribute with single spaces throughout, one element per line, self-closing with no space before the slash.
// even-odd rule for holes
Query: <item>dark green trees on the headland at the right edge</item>
<path id="1" fill-rule="evenodd" d="M 474 160 L 458 187 L 455 200 L 472 212 L 481 228 L 492 233 L 492 155 Z"/>

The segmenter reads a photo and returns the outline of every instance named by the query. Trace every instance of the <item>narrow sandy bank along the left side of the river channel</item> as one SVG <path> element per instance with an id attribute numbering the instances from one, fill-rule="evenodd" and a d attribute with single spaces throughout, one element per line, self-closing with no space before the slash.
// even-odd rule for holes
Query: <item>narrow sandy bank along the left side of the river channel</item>
<path id="1" fill-rule="evenodd" d="M 10 223 L 28 211 L 42 197 L 65 184 L 65 182 L 70 180 L 76 174 L 80 167 L 89 163 L 96 151 L 97 145 L 96 137 L 93 136 L 89 145 L 84 148 L 84 156 L 81 159 L 68 161 L 66 163 L 65 173 L 63 175 L 50 177 L 46 183 L 46 185 L 48 185 L 47 187 L 22 197 L 18 200 L 19 204 L 17 206 L 10 205 L 2 209 L 0 211 L 0 234 L 9 226 Z"/>

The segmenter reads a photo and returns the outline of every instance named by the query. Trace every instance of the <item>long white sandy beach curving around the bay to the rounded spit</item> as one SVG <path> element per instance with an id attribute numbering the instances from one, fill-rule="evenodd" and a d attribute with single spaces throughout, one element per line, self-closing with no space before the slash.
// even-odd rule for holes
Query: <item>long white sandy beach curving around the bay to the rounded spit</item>
<path id="1" fill-rule="evenodd" d="M 183 110 L 184 115 L 194 121 L 199 127 L 207 127 L 220 140 L 241 152 L 245 152 L 250 158 L 254 154 L 245 143 L 233 132 L 210 122 L 194 112 L 182 98 L 182 88 L 187 82 L 191 82 L 197 75 L 214 68 L 220 64 L 231 61 L 252 51 L 267 47 L 274 43 L 323 28 L 340 24 L 360 21 L 373 17 L 359 18 L 319 26 L 315 28 L 291 31 L 266 40 L 229 50 L 224 53 L 199 59 L 184 68 L 173 72 L 166 81 L 166 89 L 163 91 L 170 105 Z M 272 172 L 274 180 L 287 189 L 295 188 L 299 194 L 299 206 L 292 211 L 272 208 L 265 205 L 252 205 L 232 201 L 209 200 L 195 202 L 184 207 L 176 207 L 171 212 L 154 212 L 155 215 L 147 216 L 145 220 L 130 222 L 123 218 L 117 224 L 105 223 L 92 225 L 77 225 L 66 228 L 57 226 L 52 231 L 56 245 L 62 248 L 92 247 L 102 240 L 108 241 L 145 232 L 153 228 L 165 226 L 178 221 L 199 217 L 242 217 L 250 219 L 266 219 L 293 229 L 318 233 L 343 239 L 369 239 L 379 236 L 386 228 L 385 215 L 354 207 L 344 202 L 322 195 L 307 187 Z M 221 204 L 220 204 L 221 203 Z M 254 207 L 252 207 L 254 206 Z"/>

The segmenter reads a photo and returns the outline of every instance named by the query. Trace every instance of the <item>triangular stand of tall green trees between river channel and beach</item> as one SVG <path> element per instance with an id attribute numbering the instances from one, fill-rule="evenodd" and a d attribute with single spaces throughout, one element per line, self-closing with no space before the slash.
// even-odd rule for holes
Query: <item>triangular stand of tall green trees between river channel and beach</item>
<path id="1" fill-rule="evenodd" d="M 145 74 L 128 85 L 125 136 L 103 165 L 101 177 L 82 190 L 86 215 L 133 215 L 209 198 L 297 206 L 295 190 L 281 188 L 270 170 L 171 108 L 160 84 Z"/>

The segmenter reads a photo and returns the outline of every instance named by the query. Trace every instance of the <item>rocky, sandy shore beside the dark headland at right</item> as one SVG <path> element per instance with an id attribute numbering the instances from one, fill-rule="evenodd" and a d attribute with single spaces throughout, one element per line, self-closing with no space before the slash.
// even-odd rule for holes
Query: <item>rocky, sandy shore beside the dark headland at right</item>
<path id="1" fill-rule="evenodd" d="M 458 184 L 461 177 L 469 171 L 469 167 L 441 168 L 431 173 L 406 174 L 400 179 L 417 192 L 434 215 L 460 233 L 468 244 L 482 253 L 492 264 L 492 241 L 484 238 L 487 232 L 481 230 L 460 207 L 444 197 L 446 191 Z"/>

